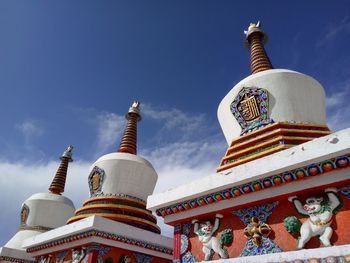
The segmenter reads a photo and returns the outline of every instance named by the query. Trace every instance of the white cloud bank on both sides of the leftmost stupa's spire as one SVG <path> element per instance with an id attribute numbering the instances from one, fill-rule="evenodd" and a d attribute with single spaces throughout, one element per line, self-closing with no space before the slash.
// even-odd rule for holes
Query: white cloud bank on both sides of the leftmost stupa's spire
<path id="1" fill-rule="evenodd" d="M 0 209 L 3 211 L 0 213 L 0 246 L 16 233 L 22 203 L 34 193 L 48 191 L 58 165 L 58 161 L 32 164 L 0 161 Z M 87 177 L 90 165 L 86 162 L 70 164 L 64 195 L 76 207 L 80 207 L 88 197 Z"/>

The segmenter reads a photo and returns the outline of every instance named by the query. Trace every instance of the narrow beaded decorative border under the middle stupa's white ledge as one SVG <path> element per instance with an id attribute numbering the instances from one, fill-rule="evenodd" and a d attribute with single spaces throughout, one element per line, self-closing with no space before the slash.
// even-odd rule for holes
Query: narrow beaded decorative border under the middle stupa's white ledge
<path id="1" fill-rule="evenodd" d="M 173 254 L 173 250 L 166 248 L 166 247 L 162 247 L 162 246 L 158 246 L 158 245 L 154 245 L 154 244 L 149 244 L 149 243 L 146 243 L 146 242 L 141 241 L 141 240 L 136 240 L 136 239 L 128 238 L 128 237 L 121 236 L 121 235 L 115 235 L 115 234 L 111 234 L 111 233 L 103 232 L 103 231 L 99 231 L 99 230 L 89 230 L 89 231 L 86 231 L 83 233 L 79 233 L 79 234 L 75 234 L 75 235 L 72 235 L 69 237 L 61 238 L 61 239 L 58 239 L 58 240 L 55 240 L 55 241 L 52 241 L 52 242 L 49 242 L 49 243 L 46 243 L 43 245 L 34 246 L 31 248 L 28 248 L 27 252 L 32 253 L 32 252 L 36 252 L 39 250 L 48 249 L 51 247 L 60 246 L 63 244 L 74 242 L 77 240 L 86 239 L 89 237 L 101 237 L 101 238 L 108 239 L 108 240 L 118 241 L 118 242 L 126 243 L 129 245 L 134 245 L 134 246 L 143 247 L 146 249 L 158 251 L 158 252 L 168 254 L 168 255 Z"/>

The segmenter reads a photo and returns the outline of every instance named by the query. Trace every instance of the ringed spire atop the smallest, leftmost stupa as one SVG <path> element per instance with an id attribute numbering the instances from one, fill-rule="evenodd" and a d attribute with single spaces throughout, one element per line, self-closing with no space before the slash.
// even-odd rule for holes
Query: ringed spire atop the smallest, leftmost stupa
<path id="1" fill-rule="evenodd" d="M 68 163 L 72 162 L 72 151 L 73 146 L 69 145 L 67 149 L 63 152 L 61 159 L 61 164 L 57 169 L 56 175 L 52 180 L 52 183 L 49 187 L 49 191 L 53 194 L 62 194 L 64 192 L 64 186 L 66 184 Z"/>

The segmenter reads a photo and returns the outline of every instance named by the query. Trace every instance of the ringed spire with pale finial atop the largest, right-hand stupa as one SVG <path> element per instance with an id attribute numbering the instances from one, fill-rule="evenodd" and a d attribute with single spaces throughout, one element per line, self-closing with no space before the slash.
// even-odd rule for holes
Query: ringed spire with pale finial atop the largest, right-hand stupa
<path id="1" fill-rule="evenodd" d="M 266 54 L 264 44 L 267 42 L 267 34 L 260 28 L 260 22 L 250 23 L 246 35 L 246 46 L 250 48 L 250 68 L 252 74 L 273 69 L 269 57 Z"/>

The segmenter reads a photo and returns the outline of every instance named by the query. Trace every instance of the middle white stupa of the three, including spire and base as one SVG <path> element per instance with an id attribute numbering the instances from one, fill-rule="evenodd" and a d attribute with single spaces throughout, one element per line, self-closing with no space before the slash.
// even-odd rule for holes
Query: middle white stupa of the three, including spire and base
<path id="1" fill-rule="evenodd" d="M 38 262 L 171 262 L 172 239 L 160 235 L 156 217 L 146 209 L 158 175 L 137 155 L 139 102 L 126 119 L 118 151 L 91 167 L 90 198 L 67 218 L 67 225 L 25 241 Z"/>

